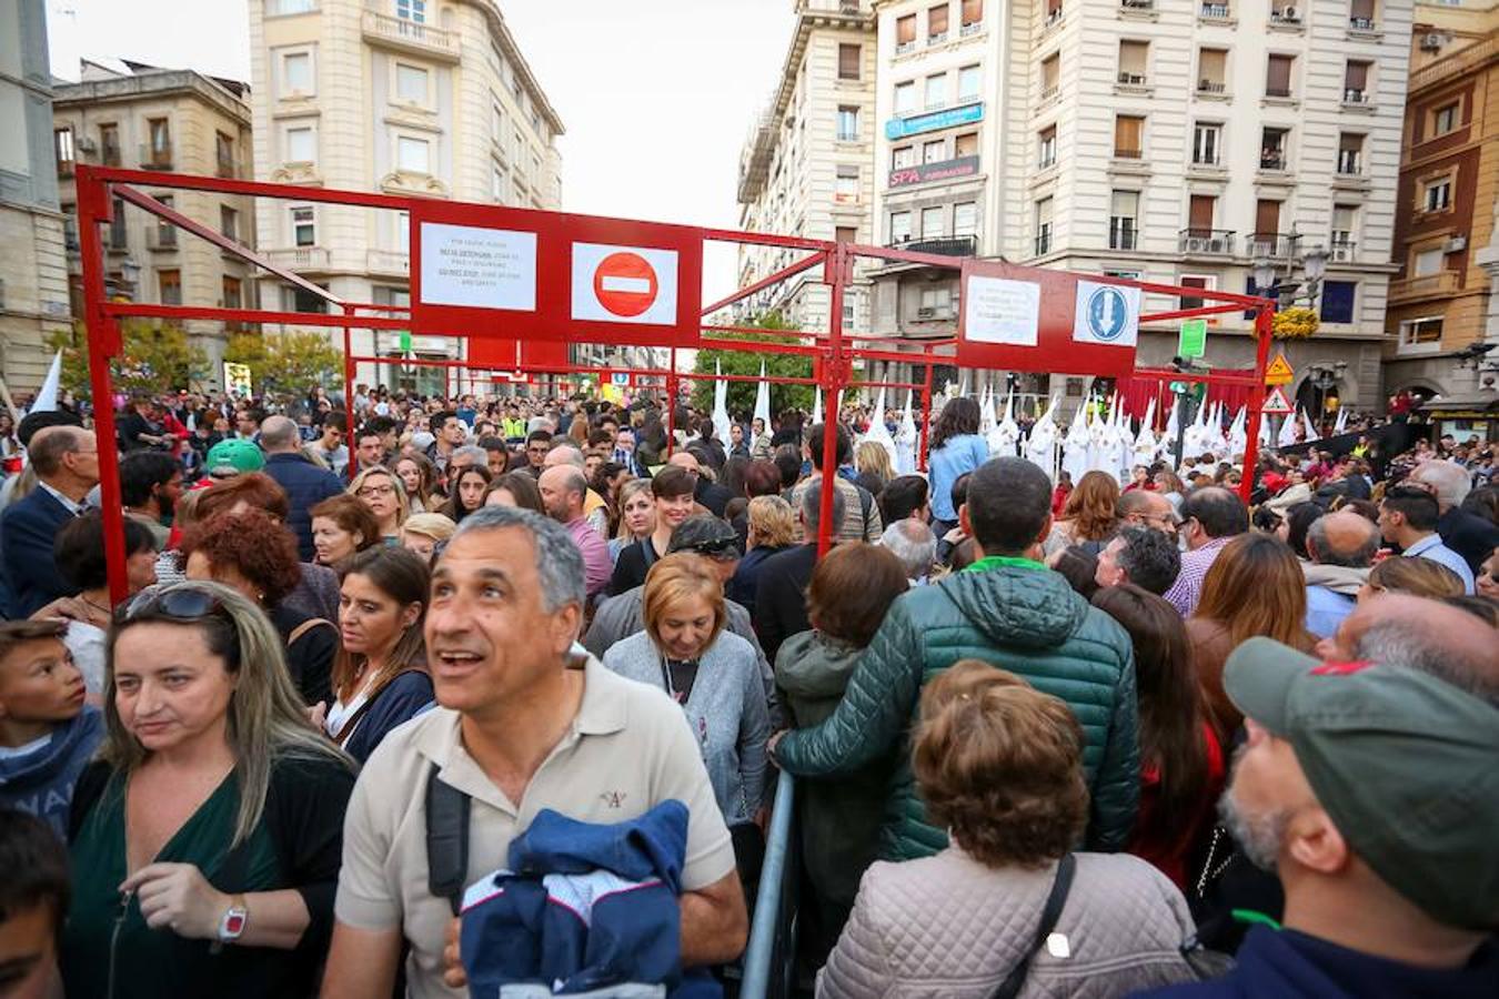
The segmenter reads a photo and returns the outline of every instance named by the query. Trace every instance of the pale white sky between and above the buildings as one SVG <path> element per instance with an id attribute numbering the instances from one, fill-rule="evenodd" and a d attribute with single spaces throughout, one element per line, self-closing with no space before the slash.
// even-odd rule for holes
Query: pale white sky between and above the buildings
<path id="1" fill-rule="evenodd" d="M 343 0 L 348 1 L 348 0 Z M 779 82 L 791 0 L 498 0 L 562 117 L 562 208 L 738 228 L 739 150 Z M 79 57 L 249 79 L 246 0 L 48 0 L 52 75 Z M 735 250 L 705 250 L 705 301 Z"/>

